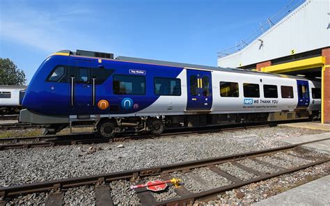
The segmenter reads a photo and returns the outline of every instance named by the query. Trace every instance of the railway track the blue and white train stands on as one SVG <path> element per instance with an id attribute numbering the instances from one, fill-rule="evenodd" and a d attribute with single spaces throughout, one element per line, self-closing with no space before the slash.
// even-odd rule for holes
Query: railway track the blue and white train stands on
<path id="1" fill-rule="evenodd" d="M 42 148 L 54 147 L 57 145 L 78 145 L 78 144 L 92 144 L 92 143 L 108 143 L 135 140 L 142 138 L 156 138 L 162 136 L 177 136 L 188 134 L 205 134 L 210 132 L 225 132 L 236 131 L 242 129 L 259 129 L 269 127 L 269 125 L 250 125 L 239 127 L 199 127 L 194 129 L 166 129 L 160 136 L 152 136 L 150 134 L 127 134 L 115 138 L 100 138 L 95 133 L 83 134 L 68 134 L 68 135 L 52 135 L 52 136 L 28 136 L 15 138 L 0 138 L 0 150 L 10 150 L 17 148 Z M 27 141 L 27 142 L 26 142 Z"/>

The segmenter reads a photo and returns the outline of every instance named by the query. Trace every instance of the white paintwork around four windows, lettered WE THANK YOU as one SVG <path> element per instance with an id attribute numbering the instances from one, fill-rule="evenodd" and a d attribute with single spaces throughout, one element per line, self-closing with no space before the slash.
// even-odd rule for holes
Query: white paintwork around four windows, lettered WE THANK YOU
<path id="1" fill-rule="evenodd" d="M 298 95 L 296 79 L 267 77 L 255 74 L 235 74 L 230 72 L 213 72 L 212 74 L 212 113 L 251 113 L 262 111 L 274 112 L 283 110 L 293 111 L 297 107 Z M 260 82 L 260 79 L 262 82 Z M 239 84 L 239 97 L 221 97 L 220 81 L 237 82 Z M 244 97 L 244 83 L 259 84 L 260 97 Z M 278 98 L 265 98 L 263 93 L 264 84 L 276 85 Z M 294 90 L 294 98 L 283 99 L 281 97 L 281 86 L 292 86 Z M 244 99 L 253 99 L 253 104 L 244 104 Z M 261 100 L 264 102 L 265 100 L 270 100 L 271 103 L 262 103 Z M 258 101 L 258 103 L 255 103 L 255 101 Z"/>

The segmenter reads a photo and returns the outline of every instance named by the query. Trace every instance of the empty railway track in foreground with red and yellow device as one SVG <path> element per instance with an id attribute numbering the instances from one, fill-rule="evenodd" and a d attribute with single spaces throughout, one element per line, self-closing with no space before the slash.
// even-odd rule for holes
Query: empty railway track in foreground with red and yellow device
<path id="1" fill-rule="evenodd" d="M 316 141 L 311 141 L 308 143 L 312 142 Z M 173 196 L 168 195 L 167 198 L 162 198 L 162 200 L 159 200 L 157 196 L 162 194 L 163 197 L 166 197 L 169 190 L 154 193 L 146 188 L 136 189 L 134 195 L 139 199 L 141 205 L 192 205 L 192 203 L 196 200 L 211 200 L 216 198 L 219 193 L 242 187 L 246 184 L 267 180 L 272 177 L 292 173 L 294 171 L 299 171 L 304 168 L 330 161 L 329 157 L 309 156 L 309 154 L 301 153 L 301 150 L 296 150 L 296 148 L 299 148 L 300 145 L 304 144 L 306 143 L 233 154 L 225 157 L 187 161 L 180 164 L 142 168 L 134 171 L 106 173 L 63 180 L 1 187 L 0 197 L 2 201 L 0 202 L 0 205 L 6 205 L 7 201 L 13 200 L 13 198 L 19 195 L 41 192 L 48 193 L 47 200 L 45 200 L 45 205 L 62 205 L 65 191 L 70 188 L 81 187 L 84 185 L 92 185 L 94 187 L 96 205 L 113 205 L 113 198 L 116 198 L 118 193 L 116 194 L 113 192 L 114 188 L 111 186 L 111 182 L 122 180 L 129 182 L 129 184 L 141 184 L 146 183 L 148 180 L 155 179 L 155 177 L 162 180 L 170 180 L 173 177 L 180 178 L 183 180 L 184 184 L 180 187 L 174 188 L 174 198 Z M 267 158 L 268 160 L 265 160 Z M 269 158 L 282 160 L 285 160 L 286 158 L 298 158 L 303 160 L 303 164 L 295 164 L 294 166 L 283 166 L 281 164 L 275 165 L 273 161 L 269 161 Z M 246 166 L 244 161 L 247 160 L 252 161 L 253 164 Z M 228 171 L 223 170 L 221 166 L 228 163 L 241 168 L 246 171 L 246 173 L 250 173 L 251 178 L 242 180 L 242 177 L 236 177 Z M 259 164 L 262 168 L 273 168 L 274 172 L 265 173 L 259 169 L 256 169 L 253 166 L 254 164 Z M 199 176 L 198 170 L 204 170 L 208 173 L 212 173 L 212 175 L 210 175 L 212 178 L 210 176 Z M 207 178 L 210 178 L 210 180 Z M 226 179 L 226 183 L 217 184 L 217 178 L 221 178 L 222 180 Z M 191 185 L 195 185 L 191 184 L 191 181 L 195 182 L 196 185 L 201 185 L 201 189 L 194 190 L 194 188 L 191 188 Z M 171 183 L 168 184 L 168 186 L 172 187 Z M 120 185 L 118 185 L 118 187 L 120 187 Z M 124 191 L 130 190 L 124 189 Z"/>

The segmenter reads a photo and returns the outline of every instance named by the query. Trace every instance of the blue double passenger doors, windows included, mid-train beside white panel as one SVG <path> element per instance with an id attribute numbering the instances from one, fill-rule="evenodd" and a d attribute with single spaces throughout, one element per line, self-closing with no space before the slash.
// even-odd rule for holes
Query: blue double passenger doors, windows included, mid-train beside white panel
<path id="1" fill-rule="evenodd" d="M 187 111 L 210 110 L 212 106 L 210 71 L 187 70 Z"/>

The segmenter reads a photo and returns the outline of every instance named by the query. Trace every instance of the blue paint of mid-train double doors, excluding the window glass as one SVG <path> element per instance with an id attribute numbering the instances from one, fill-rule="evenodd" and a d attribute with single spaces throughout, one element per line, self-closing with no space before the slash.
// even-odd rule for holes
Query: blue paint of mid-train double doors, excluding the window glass
<path id="1" fill-rule="evenodd" d="M 190 77 L 196 76 L 198 79 L 203 79 L 203 77 L 208 77 L 209 79 L 209 90 L 210 93 L 208 96 L 203 94 L 202 88 L 197 88 L 197 95 L 191 95 L 190 90 Z M 212 74 L 210 71 L 201 71 L 201 70 L 187 70 L 187 111 L 194 110 L 210 110 L 212 107 Z"/>

